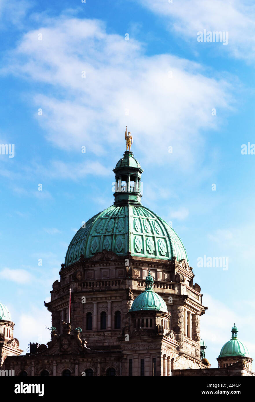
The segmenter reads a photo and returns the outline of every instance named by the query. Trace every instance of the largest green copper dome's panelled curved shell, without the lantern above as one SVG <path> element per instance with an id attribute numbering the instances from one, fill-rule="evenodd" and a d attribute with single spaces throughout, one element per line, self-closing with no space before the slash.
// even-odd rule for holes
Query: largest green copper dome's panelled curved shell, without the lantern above
<path id="1" fill-rule="evenodd" d="M 177 260 L 187 258 L 185 248 L 167 222 L 150 209 L 134 205 L 111 205 L 93 216 L 72 239 L 67 253 L 66 267 L 79 260 L 80 254 L 90 258 L 102 250 L 119 256 L 131 252 L 133 256 Z"/>

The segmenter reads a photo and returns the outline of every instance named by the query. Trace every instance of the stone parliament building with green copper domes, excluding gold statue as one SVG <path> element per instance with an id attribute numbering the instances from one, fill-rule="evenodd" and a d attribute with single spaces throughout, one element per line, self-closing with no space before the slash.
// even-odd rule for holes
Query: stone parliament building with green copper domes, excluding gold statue
<path id="1" fill-rule="evenodd" d="M 114 203 L 74 235 L 45 303 L 51 340 L 21 355 L 0 304 L 0 368 L 17 376 L 252 376 L 237 336 L 211 368 L 200 338 L 200 286 L 179 236 L 141 203 L 142 168 L 130 151 L 113 169 Z M 11 370 L 11 371 L 10 371 Z"/>

